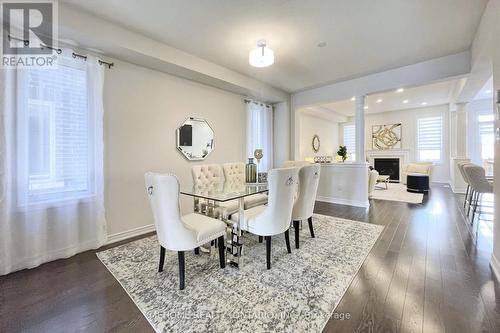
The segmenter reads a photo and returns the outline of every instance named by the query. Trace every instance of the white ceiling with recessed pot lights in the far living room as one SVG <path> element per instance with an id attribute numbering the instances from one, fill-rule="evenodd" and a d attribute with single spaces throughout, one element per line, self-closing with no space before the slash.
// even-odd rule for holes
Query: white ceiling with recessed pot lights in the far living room
<path id="1" fill-rule="evenodd" d="M 407 88 L 402 92 L 387 91 L 372 94 L 365 99 L 365 106 L 368 107 L 365 109 L 365 113 L 373 114 L 448 104 L 452 101 L 453 94 L 459 84 L 460 80 L 451 80 Z M 404 103 L 404 101 L 408 102 Z M 331 119 L 339 115 L 351 117 L 355 114 L 355 102 L 348 99 L 306 109 L 305 113 L 319 118 L 325 118 L 325 114 L 328 112 L 332 115 Z"/>

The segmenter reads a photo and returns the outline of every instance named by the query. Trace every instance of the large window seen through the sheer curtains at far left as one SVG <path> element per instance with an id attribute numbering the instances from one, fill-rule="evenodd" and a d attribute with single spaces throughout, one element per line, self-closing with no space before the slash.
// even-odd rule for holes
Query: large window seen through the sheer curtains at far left
<path id="1" fill-rule="evenodd" d="M 22 205 L 91 195 L 93 149 L 85 63 L 18 72 Z"/>

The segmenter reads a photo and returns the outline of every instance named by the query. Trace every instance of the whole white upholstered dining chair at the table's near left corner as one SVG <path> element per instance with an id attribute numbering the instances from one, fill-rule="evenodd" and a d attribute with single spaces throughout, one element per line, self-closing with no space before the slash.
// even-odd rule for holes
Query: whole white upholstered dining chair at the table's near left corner
<path id="1" fill-rule="evenodd" d="M 160 264 L 163 271 L 165 250 L 177 251 L 179 259 L 179 288 L 184 289 L 184 251 L 199 249 L 205 243 L 216 240 L 219 244 L 220 267 L 226 266 L 224 222 L 205 215 L 191 213 L 181 216 L 179 204 L 179 181 L 171 174 L 148 172 L 144 176 L 149 203 L 153 211 L 158 242 Z"/>

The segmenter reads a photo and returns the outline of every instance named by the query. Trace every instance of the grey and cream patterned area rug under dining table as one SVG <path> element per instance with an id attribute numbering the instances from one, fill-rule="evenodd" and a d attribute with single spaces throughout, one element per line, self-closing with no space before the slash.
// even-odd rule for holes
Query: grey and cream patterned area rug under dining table
<path id="1" fill-rule="evenodd" d="M 155 236 L 97 256 L 157 332 L 320 332 L 382 230 L 316 214 L 316 238 L 305 224 L 297 250 L 291 232 L 291 254 L 283 235 L 273 237 L 271 270 L 265 243 L 245 234 L 240 269 L 220 269 L 216 256 L 186 253 L 185 290 L 179 290 L 175 252 L 167 251 L 158 273 Z"/>

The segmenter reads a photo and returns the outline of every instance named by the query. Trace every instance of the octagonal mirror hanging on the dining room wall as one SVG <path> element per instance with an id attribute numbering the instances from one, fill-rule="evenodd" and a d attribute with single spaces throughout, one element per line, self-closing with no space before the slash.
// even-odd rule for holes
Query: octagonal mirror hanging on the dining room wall
<path id="1" fill-rule="evenodd" d="M 189 161 L 201 161 L 214 149 L 214 131 L 205 119 L 188 118 L 177 129 L 177 149 Z"/>

